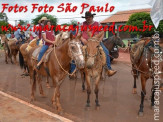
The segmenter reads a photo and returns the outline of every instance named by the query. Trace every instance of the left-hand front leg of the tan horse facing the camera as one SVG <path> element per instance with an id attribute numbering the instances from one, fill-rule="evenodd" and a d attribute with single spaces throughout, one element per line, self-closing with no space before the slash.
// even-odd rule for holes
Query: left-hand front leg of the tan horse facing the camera
<path id="1" fill-rule="evenodd" d="M 90 76 L 86 75 L 86 83 L 87 83 L 87 104 L 86 107 L 90 107 L 90 94 L 91 94 L 91 87 L 90 87 Z"/>

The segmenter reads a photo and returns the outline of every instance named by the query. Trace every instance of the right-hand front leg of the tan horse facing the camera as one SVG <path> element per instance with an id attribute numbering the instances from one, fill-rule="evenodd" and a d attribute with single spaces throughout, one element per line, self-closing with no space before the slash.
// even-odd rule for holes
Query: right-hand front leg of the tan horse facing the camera
<path id="1" fill-rule="evenodd" d="M 95 94 L 96 94 L 96 99 L 95 99 L 95 103 L 96 103 L 96 108 L 99 108 L 100 104 L 99 104 L 99 100 L 98 100 L 98 85 L 99 85 L 99 81 L 100 81 L 100 75 L 96 78 L 96 82 L 95 82 Z"/>

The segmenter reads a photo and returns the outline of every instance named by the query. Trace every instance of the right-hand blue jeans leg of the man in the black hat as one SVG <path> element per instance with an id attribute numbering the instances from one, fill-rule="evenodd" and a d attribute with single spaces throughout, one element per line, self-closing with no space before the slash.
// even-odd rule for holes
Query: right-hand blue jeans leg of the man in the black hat
<path id="1" fill-rule="evenodd" d="M 107 65 L 108 69 L 111 69 L 109 50 L 105 47 L 105 45 L 103 44 L 103 42 L 100 42 L 100 45 L 103 48 L 104 53 L 106 55 L 106 65 Z"/>

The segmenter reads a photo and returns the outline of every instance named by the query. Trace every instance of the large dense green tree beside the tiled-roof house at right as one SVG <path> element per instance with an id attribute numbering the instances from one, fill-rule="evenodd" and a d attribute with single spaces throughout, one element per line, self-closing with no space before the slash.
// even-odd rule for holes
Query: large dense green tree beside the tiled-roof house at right
<path id="1" fill-rule="evenodd" d="M 144 13 L 144 12 L 132 14 L 127 22 L 127 25 L 137 26 L 138 29 L 143 30 L 144 20 L 146 21 L 146 25 L 153 25 L 150 14 Z M 151 36 L 152 34 L 154 34 L 154 30 L 156 30 L 155 27 L 153 27 L 151 31 L 148 31 L 148 30 L 144 32 L 134 31 L 130 33 L 142 35 L 142 36 Z M 157 31 L 159 31 L 160 35 L 163 33 L 163 21 L 160 22 L 159 27 L 157 28 Z"/>

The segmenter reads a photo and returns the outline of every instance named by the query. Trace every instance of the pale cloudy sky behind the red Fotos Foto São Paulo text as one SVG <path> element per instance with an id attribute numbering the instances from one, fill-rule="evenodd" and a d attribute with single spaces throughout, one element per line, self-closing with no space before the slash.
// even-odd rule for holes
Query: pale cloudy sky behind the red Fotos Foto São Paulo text
<path id="1" fill-rule="evenodd" d="M 0 12 L 2 11 L 2 4 L 8 3 L 8 8 L 10 6 L 15 6 L 15 4 L 18 4 L 18 6 L 27 6 L 28 11 L 27 12 L 17 12 L 14 13 L 13 11 L 8 12 L 7 9 L 5 9 L 4 13 L 7 14 L 9 23 L 12 25 L 15 25 L 15 20 L 28 20 L 31 22 L 32 19 L 34 19 L 37 15 L 42 14 L 42 12 L 38 12 L 38 9 L 35 9 L 33 13 L 32 11 L 32 4 L 39 4 L 38 6 L 44 6 L 45 4 L 48 4 L 48 6 L 54 6 L 54 9 L 52 12 L 49 12 L 48 14 L 53 15 L 58 18 L 58 24 L 68 23 L 71 20 L 76 20 L 78 22 L 84 21 L 81 16 L 84 16 L 84 13 L 90 9 L 91 6 L 103 6 L 105 8 L 105 5 L 109 3 L 108 8 L 111 6 L 114 6 L 114 10 L 112 12 L 92 12 L 96 13 L 97 16 L 94 17 L 94 20 L 96 21 L 102 21 L 111 15 L 115 14 L 118 11 L 124 11 L 124 10 L 132 10 L 132 9 L 145 9 L 145 8 L 151 8 L 149 3 L 151 0 L 3 0 L 0 1 Z M 74 6 L 77 6 L 77 10 L 75 12 L 57 12 L 57 10 L 60 10 L 57 8 L 61 3 L 64 3 L 64 8 L 66 8 L 67 3 L 72 3 L 71 8 Z M 84 9 L 84 12 L 80 14 L 82 11 L 81 5 L 83 3 L 89 4 L 89 7 Z"/>

